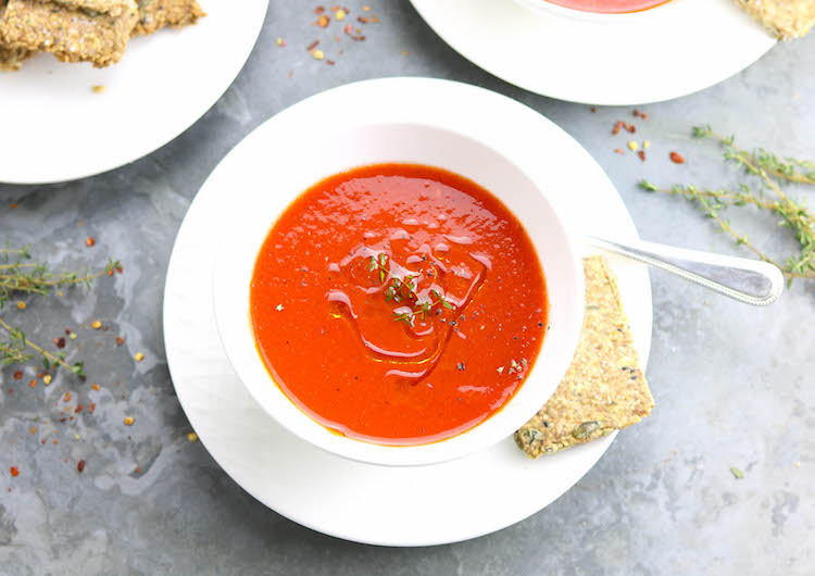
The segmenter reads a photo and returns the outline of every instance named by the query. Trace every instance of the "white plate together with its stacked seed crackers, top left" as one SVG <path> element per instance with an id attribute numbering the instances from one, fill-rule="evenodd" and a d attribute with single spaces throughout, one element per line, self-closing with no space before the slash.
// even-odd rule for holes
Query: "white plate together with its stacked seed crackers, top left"
<path id="1" fill-rule="evenodd" d="M 156 7 L 154 14 L 142 8 L 131 17 L 127 10 L 133 8 L 120 5 L 135 5 L 129 2 L 8 0 L 5 7 L 7 0 L 0 0 L 0 36 L 52 52 L 35 53 L 16 72 L 0 72 L 0 181 L 83 178 L 164 146 L 226 91 L 249 58 L 268 8 L 268 0 L 242 0 L 240 9 L 226 0 L 199 0 L 206 13 L 199 18 L 186 9 L 174 12 L 193 10 L 191 0 L 150 0 L 140 5 Z M 49 23 L 36 12 L 42 7 L 76 29 L 51 32 L 49 26 L 59 30 L 62 21 Z M 146 36 L 163 14 L 177 14 L 178 21 Z M 195 25 L 173 27 L 195 20 Z M 26 34 L 40 28 L 46 30 L 41 35 Z M 131 30 L 124 39 L 123 28 Z M 116 61 L 122 50 L 117 63 L 93 67 L 93 62 Z M 89 61 L 60 62 L 54 53 Z M 0 46 L 0 64 L 4 58 L 8 51 L 3 55 Z M 5 67 L 14 66 L 7 62 Z"/>

